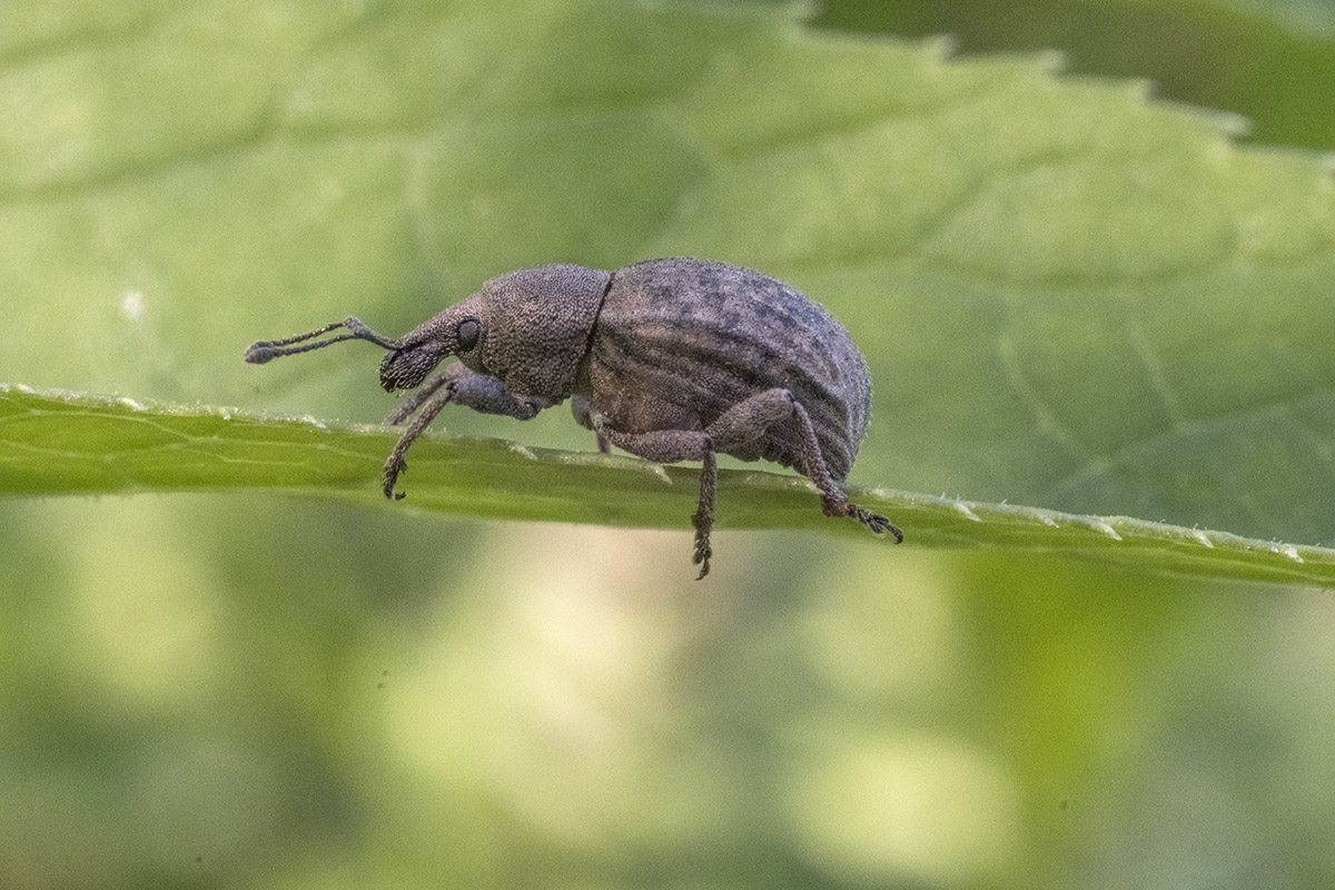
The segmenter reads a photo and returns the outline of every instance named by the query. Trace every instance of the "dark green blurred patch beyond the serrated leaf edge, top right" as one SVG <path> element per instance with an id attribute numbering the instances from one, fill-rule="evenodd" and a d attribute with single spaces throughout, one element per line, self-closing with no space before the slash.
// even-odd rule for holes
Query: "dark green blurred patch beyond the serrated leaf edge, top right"
<path id="1" fill-rule="evenodd" d="M 1335 145 L 1328 0 L 824 0 L 812 25 L 945 33 L 965 53 L 1056 49 L 1069 71 L 1144 80 L 1164 99 L 1243 115 L 1256 143 Z"/>

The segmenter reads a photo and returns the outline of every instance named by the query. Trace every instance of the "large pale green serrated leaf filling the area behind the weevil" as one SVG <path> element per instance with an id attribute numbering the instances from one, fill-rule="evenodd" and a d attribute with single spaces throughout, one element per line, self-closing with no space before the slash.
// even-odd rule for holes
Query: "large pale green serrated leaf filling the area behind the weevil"
<path id="1" fill-rule="evenodd" d="M 1335 188 L 1226 119 L 785 9 L 63 21 L 16 16 L 0 56 L 0 379 L 372 419 L 364 350 L 264 370 L 242 350 L 352 312 L 396 334 L 515 267 L 702 255 L 850 328 L 877 384 L 854 483 L 1260 540 L 1335 527 Z M 463 414 L 587 446 L 561 412 Z"/>

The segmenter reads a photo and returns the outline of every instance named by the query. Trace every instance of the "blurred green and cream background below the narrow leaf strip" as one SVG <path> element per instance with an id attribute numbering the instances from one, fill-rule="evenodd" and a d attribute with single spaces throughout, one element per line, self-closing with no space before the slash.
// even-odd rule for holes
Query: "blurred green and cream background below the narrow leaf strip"
<path id="1" fill-rule="evenodd" d="M 1320 886 L 1330 595 L 9 503 L 5 886 Z M 533 883 L 530 883 L 533 882 Z"/>

